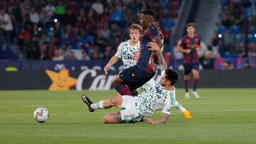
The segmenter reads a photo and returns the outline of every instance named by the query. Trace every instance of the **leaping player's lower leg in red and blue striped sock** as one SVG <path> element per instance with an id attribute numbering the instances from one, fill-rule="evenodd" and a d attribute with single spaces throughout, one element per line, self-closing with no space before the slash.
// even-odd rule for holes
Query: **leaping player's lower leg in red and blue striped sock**
<path id="1" fill-rule="evenodd" d="M 129 87 L 127 87 L 126 84 L 124 84 L 123 80 L 117 76 L 114 81 L 112 82 L 112 85 L 114 89 L 121 95 L 130 95 L 131 92 L 129 90 Z"/>

